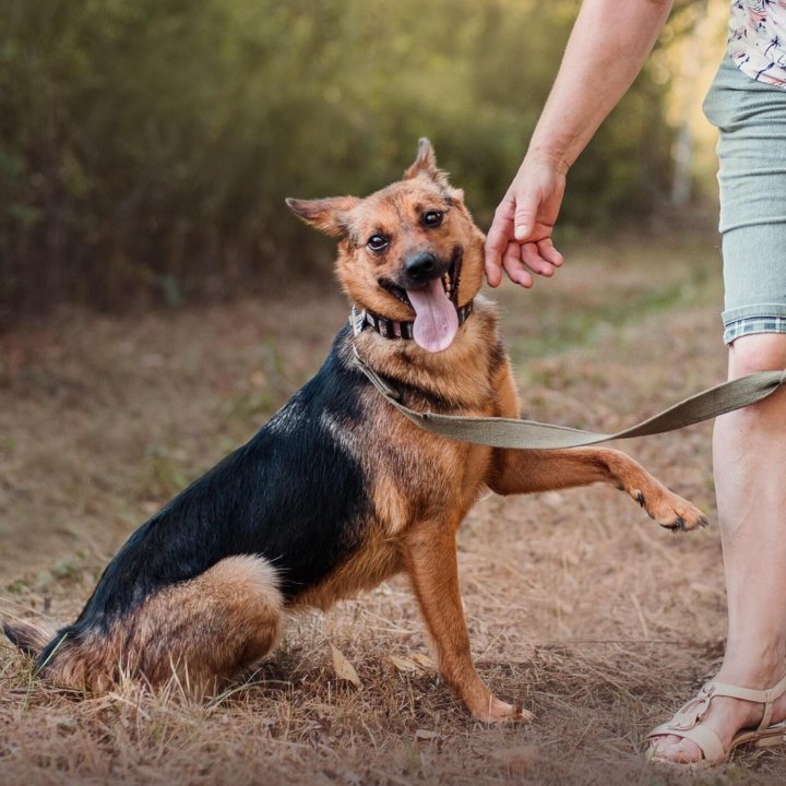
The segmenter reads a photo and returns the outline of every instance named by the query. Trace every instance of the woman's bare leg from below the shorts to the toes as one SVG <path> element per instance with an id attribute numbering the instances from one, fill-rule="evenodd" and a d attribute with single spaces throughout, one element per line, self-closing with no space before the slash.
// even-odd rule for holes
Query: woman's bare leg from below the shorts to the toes
<path id="1" fill-rule="evenodd" d="M 729 379 L 786 368 L 786 334 L 737 338 Z M 717 681 L 770 688 L 786 670 L 786 390 L 719 417 L 713 439 L 715 489 L 728 597 L 728 639 Z M 762 708 L 716 698 L 705 723 L 725 748 L 755 726 Z M 786 696 L 772 723 L 786 718 Z M 660 737 L 658 754 L 678 762 L 702 758 L 689 740 Z"/>

